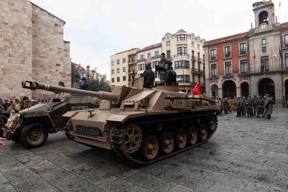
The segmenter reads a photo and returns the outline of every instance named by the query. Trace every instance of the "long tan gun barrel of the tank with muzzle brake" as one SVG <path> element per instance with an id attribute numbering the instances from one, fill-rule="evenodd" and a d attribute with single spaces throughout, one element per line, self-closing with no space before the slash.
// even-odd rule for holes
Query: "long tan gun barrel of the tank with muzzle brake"
<path id="1" fill-rule="evenodd" d="M 68 87 L 60 87 L 60 86 L 56 86 L 56 85 L 38 83 L 35 80 L 27 80 L 27 79 L 23 80 L 22 81 L 22 88 L 30 89 L 30 90 L 40 89 L 40 90 L 47 90 L 47 91 L 86 95 L 86 96 L 97 97 L 97 98 L 102 99 L 102 100 L 108 100 L 108 101 L 113 101 L 113 102 L 117 102 L 117 100 L 118 100 L 118 94 L 115 94 L 115 93 L 108 93 L 108 92 L 104 92 L 104 91 L 94 92 L 94 91 L 73 89 L 73 88 L 68 88 Z"/>

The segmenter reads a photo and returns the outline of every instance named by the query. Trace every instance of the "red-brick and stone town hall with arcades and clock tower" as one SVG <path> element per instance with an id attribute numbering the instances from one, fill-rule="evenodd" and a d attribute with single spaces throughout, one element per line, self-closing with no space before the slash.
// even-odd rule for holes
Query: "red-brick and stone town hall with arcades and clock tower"
<path id="1" fill-rule="evenodd" d="M 277 22 L 272 1 L 252 6 L 255 28 L 251 23 L 247 32 L 206 41 L 206 95 L 267 93 L 283 105 L 288 94 L 288 22 Z"/>

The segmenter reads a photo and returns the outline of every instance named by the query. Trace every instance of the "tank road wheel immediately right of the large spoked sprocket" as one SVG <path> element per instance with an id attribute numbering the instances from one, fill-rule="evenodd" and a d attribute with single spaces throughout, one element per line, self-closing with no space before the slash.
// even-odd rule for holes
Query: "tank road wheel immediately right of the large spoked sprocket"
<path id="1" fill-rule="evenodd" d="M 159 152 L 159 142 L 156 136 L 147 135 L 143 141 L 143 156 L 146 160 L 152 161 Z"/>

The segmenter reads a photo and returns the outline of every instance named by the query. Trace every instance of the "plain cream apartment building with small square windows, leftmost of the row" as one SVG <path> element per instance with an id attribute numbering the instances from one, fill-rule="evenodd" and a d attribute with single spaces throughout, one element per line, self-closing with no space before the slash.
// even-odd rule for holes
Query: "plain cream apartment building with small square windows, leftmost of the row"
<path id="1" fill-rule="evenodd" d="M 137 75 L 137 51 L 138 48 L 116 53 L 110 56 L 110 77 L 111 85 L 129 86 L 132 79 L 133 69 L 134 76 Z"/>

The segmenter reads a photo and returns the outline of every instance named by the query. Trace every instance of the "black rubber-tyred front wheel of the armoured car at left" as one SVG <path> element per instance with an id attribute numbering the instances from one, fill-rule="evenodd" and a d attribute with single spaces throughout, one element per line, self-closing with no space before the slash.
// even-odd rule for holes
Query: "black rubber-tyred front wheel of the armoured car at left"
<path id="1" fill-rule="evenodd" d="M 47 130 L 41 123 L 30 123 L 20 132 L 20 142 L 27 148 L 41 147 L 47 140 Z"/>

